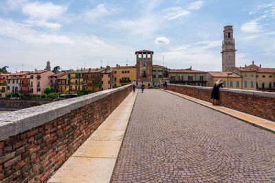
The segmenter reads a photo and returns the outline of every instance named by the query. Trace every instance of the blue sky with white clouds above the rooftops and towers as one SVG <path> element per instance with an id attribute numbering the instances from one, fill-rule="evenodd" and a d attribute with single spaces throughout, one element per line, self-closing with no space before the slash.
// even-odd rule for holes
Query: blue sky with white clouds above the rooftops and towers
<path id="1" fill-rule="evenodd" d="M 8 71 L 153 64 L 221 71 L 223 27 L 233 25 L 236 66 L 275 67 L 275 1 L 0 0 L 0 67 Z"/>

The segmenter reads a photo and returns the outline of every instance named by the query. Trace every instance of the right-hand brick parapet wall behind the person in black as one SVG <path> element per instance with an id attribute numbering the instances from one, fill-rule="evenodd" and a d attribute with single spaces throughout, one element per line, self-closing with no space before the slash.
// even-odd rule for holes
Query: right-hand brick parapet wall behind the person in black
<path id="1" fill-rule="evenodd" d="M 212 102 L 211 87 L 167 84 L 167 89 Z M 219 103 L 227 108 L 275 121 L 275 93 L 220 88 Z"/>

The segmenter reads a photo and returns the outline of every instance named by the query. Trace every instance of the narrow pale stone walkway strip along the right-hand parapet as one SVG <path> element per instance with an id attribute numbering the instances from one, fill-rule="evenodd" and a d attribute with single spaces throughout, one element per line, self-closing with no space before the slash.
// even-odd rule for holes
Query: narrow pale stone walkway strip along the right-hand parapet
<path id="1" fill-rule="evenodd" d="M 223 112 L 224 114 L 228 114 L 228 115 L 230 115 L 232 117 L 235 117 L 237 119 L 241 119 L 242 121 L 250 123 L 251 125 L 254 125 L 256 127 L 261 127 L 264 130 L 275 133 L 275 122 L 274 121 L 270 121 L 270 120 L 263 119 L 263 118 L 260 118 L 260 117 L 255 117 L 251 114 L 247 114 L 247 113 L 240 112 L 238 110 L 233 110 L 233 109 L 230 109 L 230 108 L 226 108 L 226 107 L 223 107 L 223 106 L 212 106 L 212 103 L 210 103 L 208 101 L 203 101 L 201 99 L 196 99 L 196 98 L 190 97 L 188 95 L 183 95 L 181 93 L 173 92 L 171 90 L 165 90 L 165 91 L 168 92 L 168 93 L 172 93 L 174 95 L 177 95 L 179 97 L 183 97 L 184 99 L 194 101 L 196 103 L 199 103 L 199 104 L 201 104 L 203 106 L 206 106 L 208 108 L 212 108 L 212 109 L 217 110 L 219 112 Z"/>

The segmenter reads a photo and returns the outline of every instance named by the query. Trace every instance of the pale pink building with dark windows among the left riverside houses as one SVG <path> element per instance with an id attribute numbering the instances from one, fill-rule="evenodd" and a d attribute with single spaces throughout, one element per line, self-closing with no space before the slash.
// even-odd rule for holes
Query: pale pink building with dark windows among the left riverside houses
<path id="1" fill-rule="evenodd" d="M 46 86 L 49 86 L 50 75 L 54 75 L 54 72 L 49 70 L 35 69 L 34 72 L 30 73 L 30 94 L 41 95 L 44 92 Z"/>

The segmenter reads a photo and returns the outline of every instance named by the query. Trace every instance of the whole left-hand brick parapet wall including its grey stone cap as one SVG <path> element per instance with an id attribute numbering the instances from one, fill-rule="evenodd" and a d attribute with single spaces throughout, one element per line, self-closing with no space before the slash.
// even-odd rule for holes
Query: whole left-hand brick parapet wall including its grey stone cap
<path id="1" fill-rule="evenodd" d="M 131 92 L 131 85 L 0 115 L 0 182 L 45 182 Z"/>

